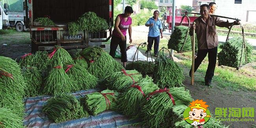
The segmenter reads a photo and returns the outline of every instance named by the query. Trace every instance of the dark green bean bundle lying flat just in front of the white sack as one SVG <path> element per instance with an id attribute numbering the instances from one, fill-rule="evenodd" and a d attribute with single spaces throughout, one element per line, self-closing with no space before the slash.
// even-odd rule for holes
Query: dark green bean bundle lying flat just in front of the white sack
<path id="1" fill-rule="evenodd" d="M 153 62 L 137 61 L 126 65 L 126 70 L 137 70 L 143 76 L 154 72 L 155 64 Z"/>

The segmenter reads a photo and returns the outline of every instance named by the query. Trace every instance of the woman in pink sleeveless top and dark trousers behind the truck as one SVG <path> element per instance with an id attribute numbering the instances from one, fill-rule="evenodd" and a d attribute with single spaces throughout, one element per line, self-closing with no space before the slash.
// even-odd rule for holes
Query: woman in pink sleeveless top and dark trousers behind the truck
<path id="1" fill-rule="evenodd" d="M 124 68 L 126 67 L 127 55 L 126 55 L 126 31 L 128 29 L 130 43 L 132 43 L 132 18 L 130 15 L 134 13 L 131 6 L 126 6 L 123 14 L 117 15 L 115 19 L 115 28 L 112 33 L 110 42 L 109 54 L 114 58 L 115 50 L 119 45 L 121 51 L 121 62 L 123 62 Z"/>

